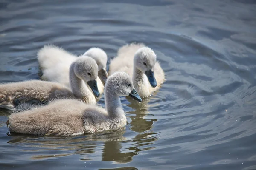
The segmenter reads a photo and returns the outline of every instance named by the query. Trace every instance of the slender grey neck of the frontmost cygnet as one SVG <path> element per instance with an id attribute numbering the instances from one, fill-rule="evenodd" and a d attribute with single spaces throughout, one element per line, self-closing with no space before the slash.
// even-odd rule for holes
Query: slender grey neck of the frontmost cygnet
<path id="1" fill-rule="evenodd" d="M 105 106 L 109 116 L 125 116 L 125 112 L 123 111 L 119 95 L 115 93 L 115 90 L 113 89 L 113 85 L 111 85 L 111 83 L 107 83 L 105 85 Z"/>

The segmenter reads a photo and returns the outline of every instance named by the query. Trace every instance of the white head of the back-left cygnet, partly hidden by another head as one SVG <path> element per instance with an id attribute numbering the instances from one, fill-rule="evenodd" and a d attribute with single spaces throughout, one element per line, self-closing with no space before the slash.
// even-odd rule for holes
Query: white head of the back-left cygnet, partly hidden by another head
<path id="1" fill-rule="evenodd" d="M 101 48 L 93 47 L 93 48 L 90 48 L 88 51 L 86 51 L 83 55 L 86 55 L 95 59 L 99 67 L 98 76 L 102 81 L 103 85 L 105 85 L 106 80 L 108 79 L 108 72 L 106 71 L 108 56 L 105 53 L 105 51 L 103 51 Z"/>

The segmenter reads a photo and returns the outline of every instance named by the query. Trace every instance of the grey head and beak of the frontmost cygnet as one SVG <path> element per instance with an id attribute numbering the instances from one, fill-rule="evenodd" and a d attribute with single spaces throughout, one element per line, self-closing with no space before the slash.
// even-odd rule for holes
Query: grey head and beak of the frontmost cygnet
<path id="1" fill-rule="evenodd" d="M 125 72 L 115 72 L 108 77 L 106 82 L 106 91 L 115 93 L 118 96 L 130 96 L 135 100 L 141 102 L 140 95 L 134 89 L 131 77 Z"/>

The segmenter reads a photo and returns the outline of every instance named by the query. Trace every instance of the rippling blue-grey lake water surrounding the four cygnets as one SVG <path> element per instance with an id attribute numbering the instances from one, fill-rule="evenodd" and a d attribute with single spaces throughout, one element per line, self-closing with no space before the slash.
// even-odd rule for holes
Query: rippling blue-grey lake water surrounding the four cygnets
<path id="1" fill-rule="evenodd" d="M 166 82 L 122 98 L 127 126 L 87 136 L 8 136 L 0 169 L 256 169 L 255 0 L 0 0 L 0 82 L 40 79 L 37 51 L 153 48 Z M 104 97 L 99 104 L 104 106 Z"/>

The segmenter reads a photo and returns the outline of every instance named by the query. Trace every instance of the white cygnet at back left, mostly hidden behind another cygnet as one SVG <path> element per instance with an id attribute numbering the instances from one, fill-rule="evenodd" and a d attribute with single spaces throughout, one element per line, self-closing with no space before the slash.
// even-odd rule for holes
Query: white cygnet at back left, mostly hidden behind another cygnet
<path id="1" fill-rule="evenodd" d="M 81 56 L 89 56 L 93 58 L 98 65 L 98 89 L 100 93 L 104 92 L 104 85 L 108 78 L 106 71 L 108 56 L 101 48 L 90 48 Z M 81 57 L 79 56 L 79 57 Z M 38 51 L 38 63 L 42 71 L 42 80 L 50 82 L 58 82 L 70 87 L 69 68 L 77 56 L 65 51 L 55 45 L 45 45 Z"/>

